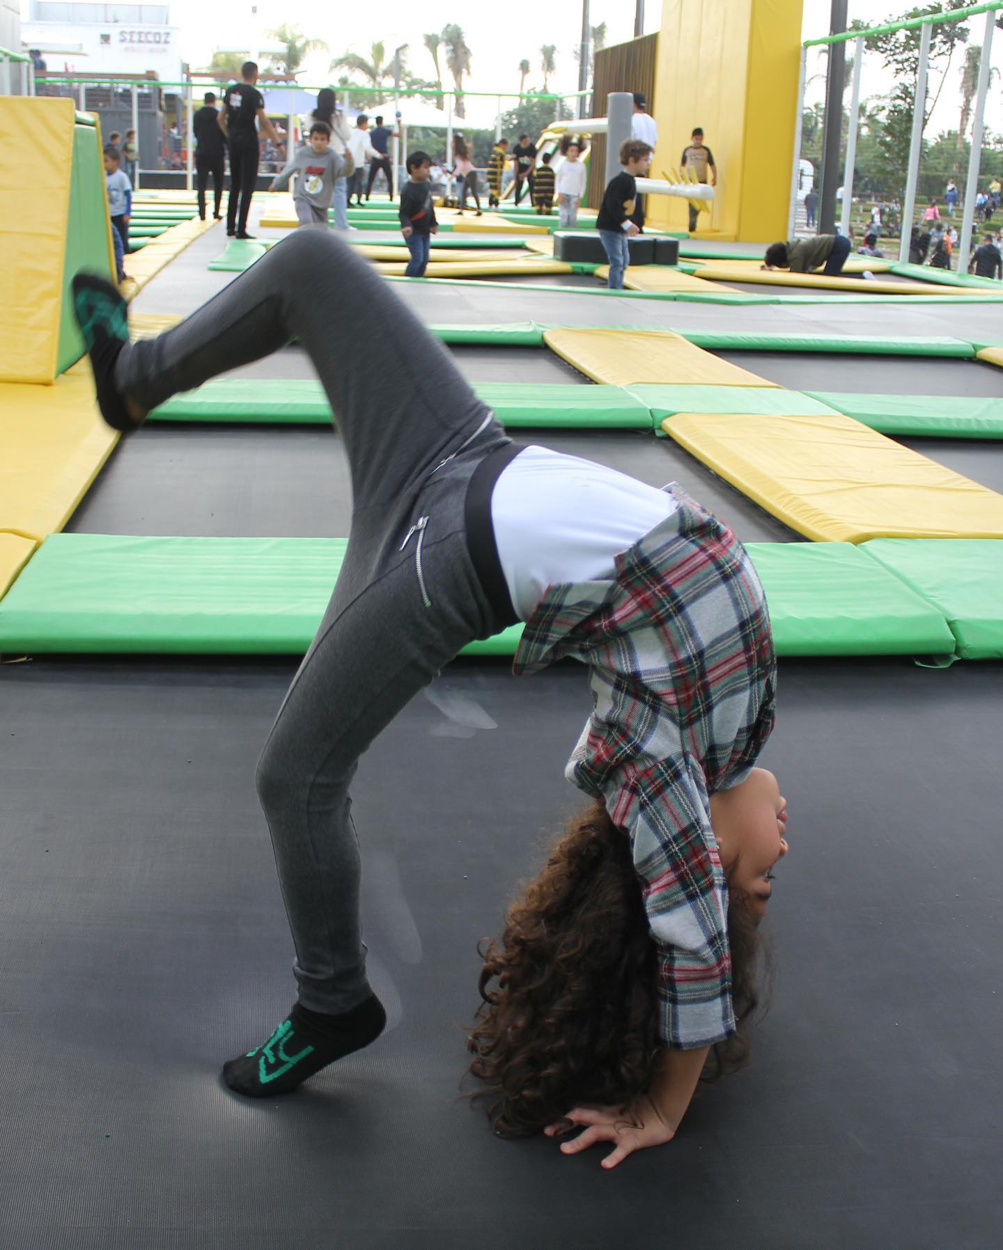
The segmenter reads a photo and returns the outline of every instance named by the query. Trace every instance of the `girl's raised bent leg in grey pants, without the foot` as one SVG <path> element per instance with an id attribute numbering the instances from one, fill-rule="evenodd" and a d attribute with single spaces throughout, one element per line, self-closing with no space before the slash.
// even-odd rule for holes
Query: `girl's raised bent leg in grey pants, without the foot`
<path id="1" fill-rule="evenodd" d="M 294 339 L 335 412 L 356 508 L 396 499 L 490 424 L 449 352 L 390 284 L 320 230 L 296 230 L 180 325 L 126 344 L 115 385 L 149 411 Z"/>

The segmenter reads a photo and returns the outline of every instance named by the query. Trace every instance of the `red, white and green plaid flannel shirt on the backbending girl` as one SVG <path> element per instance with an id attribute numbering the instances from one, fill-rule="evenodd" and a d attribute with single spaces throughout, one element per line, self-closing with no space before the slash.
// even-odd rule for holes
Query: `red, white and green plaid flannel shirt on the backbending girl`
<path id="1" fill-rule="evenodd" d="M 589 666 L 593 711 L 567 775 L 630 835 L 659 954 L 659 1038 L 695 1049 L 735 1030 L 709 796 L 747 776 L 773 729 L 775 659 L 744 548 L 665 489 L 678 510 L 617 556 L 614 580 L 548 589 L 513 668 Z"/>

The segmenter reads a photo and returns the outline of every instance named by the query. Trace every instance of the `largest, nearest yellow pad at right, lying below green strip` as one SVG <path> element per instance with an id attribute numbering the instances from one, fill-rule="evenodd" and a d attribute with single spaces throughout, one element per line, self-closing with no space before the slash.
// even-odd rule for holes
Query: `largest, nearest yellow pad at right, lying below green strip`
<path id="1" fill-rule="evenodd" d="M 1003 539 L 1003 495 L 849 416 L 679 412 L 662 429 L 819 542 Z"/>

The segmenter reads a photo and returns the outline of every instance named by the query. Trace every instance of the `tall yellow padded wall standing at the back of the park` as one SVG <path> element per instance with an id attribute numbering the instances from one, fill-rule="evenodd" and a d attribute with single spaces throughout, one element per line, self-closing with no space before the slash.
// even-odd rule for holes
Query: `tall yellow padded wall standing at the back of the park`
<path id="1" fill-rule="evenodd" d="M 703 126 L 718 194 L 698 230 L 743 240 L 787 236 L 802 0 L 663 0 L 655 175 Z M 653 225 L 687 228 L 687 202 L 648 201 Z"/>

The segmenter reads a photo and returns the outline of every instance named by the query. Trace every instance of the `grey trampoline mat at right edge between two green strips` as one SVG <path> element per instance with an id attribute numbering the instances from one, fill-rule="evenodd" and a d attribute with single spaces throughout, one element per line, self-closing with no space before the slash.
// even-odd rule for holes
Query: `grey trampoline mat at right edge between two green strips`
<path id="1" fill-rule="evenodd" d="M 972 360 L 825 355 L 813 351 L 715 351 L 714 355 L 790 390 L 995 396 L 1002 388 L 999 370 Z"/>

